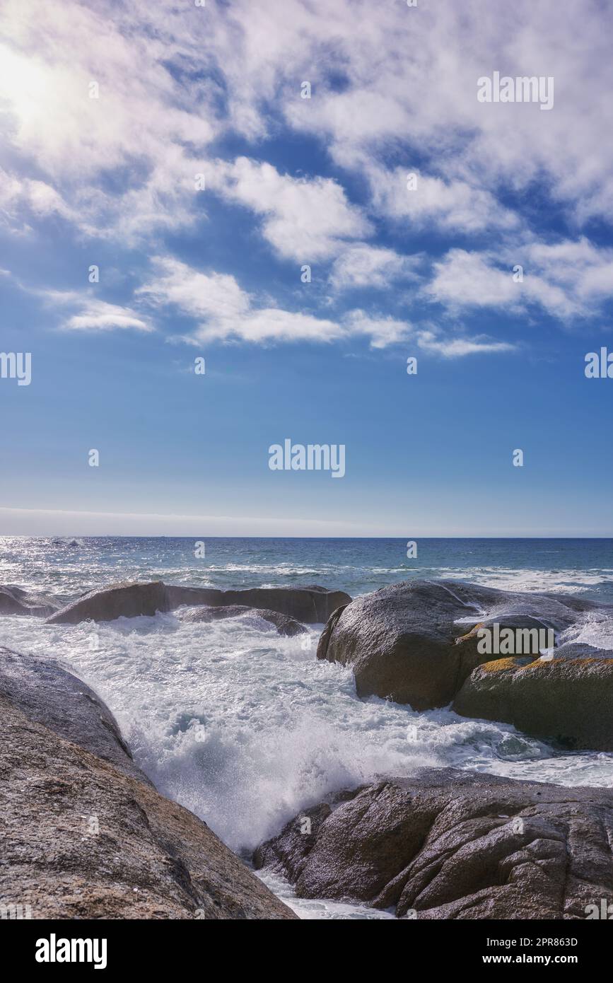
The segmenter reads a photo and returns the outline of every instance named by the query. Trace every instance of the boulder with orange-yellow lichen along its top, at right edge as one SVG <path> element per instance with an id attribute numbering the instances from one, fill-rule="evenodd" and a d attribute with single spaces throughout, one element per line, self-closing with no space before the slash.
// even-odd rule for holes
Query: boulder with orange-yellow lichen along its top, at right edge
<path id="1" fill-rule="evenodd" d="M 526 656 L 478 666 L 453 709 L 575 750 L 613 751 L 613 654 L 580 645 L 555 652 L 550 661 Z"/>

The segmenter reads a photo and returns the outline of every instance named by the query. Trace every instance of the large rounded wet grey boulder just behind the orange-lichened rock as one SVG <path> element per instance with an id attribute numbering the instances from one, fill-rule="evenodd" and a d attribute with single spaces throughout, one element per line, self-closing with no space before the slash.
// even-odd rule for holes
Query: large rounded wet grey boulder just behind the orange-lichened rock
<path id="1" fill-rule="evenodd" d="M 579 616 L 576 607 L 546 595 L 410 581 L 335 610 L 317 658 L 352 665 L 359 696 L 429 710 L 450 703 L 474 667 L 491 660 L 477 651 L 479 627 L 498 621 L 560 632 Z"/>

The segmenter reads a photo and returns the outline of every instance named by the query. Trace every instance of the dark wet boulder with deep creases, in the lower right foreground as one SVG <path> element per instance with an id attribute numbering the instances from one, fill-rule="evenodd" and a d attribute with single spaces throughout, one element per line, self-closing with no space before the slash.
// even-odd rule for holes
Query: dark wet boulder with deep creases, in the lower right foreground
<path id="1" fill-rule="evenodd" d="M 255 852 L 300 897 L 418 919 L 572 919 L 613 895 L 609 789 L 424 769 L 331 806 L 308 838 L 307 812 Z"/>

